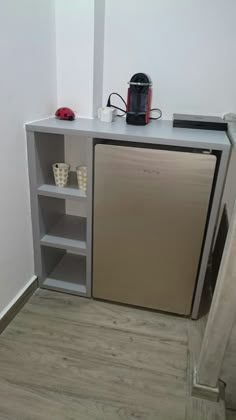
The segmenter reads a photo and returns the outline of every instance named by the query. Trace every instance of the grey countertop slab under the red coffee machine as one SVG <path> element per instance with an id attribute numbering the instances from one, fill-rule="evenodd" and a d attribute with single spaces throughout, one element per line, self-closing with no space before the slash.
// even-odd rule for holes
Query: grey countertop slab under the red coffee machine
<path id="1" fill-rule="evenodd" d="M 134 126 L 126 124 L 124 118 L 105 123 L 98 119 L 77 118 L 74 121 L 62 121 L 51 117 L 26 124 L 26 130 L 199 149 L 229 150 L 231 147 L 228 136 L 223 131 L 175 128 L 172 121 L 167 120 Z"/>

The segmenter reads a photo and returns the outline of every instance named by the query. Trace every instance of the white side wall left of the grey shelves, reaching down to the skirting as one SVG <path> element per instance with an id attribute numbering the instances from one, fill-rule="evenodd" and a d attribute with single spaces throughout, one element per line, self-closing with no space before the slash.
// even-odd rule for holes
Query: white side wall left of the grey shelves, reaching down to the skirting
<path id="1" fill-rule="evenodd" d="M 53 0 L 7 0 L 0 12 L 0 318 L 34 274 L 24 123 L 53 113 Z"/>

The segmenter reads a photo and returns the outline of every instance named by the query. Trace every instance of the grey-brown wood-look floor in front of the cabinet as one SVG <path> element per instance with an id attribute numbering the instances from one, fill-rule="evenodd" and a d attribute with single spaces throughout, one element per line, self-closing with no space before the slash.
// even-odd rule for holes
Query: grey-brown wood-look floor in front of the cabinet
<path id="1" fill-rule="evenodd" d="M 0 337 L 0 419 L 220 420 L 189 396 L 191 322 L 38 290 Z"/>

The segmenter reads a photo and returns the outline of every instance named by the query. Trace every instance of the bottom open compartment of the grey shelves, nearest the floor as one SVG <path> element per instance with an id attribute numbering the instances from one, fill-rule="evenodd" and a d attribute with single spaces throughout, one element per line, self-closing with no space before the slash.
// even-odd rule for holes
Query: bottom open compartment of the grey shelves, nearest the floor
<path id="1" fill-rule="evenodd" d="M 87 295 L 86 258 L 70 252 L 43 247 L 45 276 L 41 287 L 80 296 Z"/>

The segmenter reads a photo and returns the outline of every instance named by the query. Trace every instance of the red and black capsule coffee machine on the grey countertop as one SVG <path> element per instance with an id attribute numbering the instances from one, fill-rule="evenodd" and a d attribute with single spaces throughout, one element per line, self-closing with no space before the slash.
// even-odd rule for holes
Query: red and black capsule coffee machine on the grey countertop
<path id="1" fill-rule="evenodd" d="M 149 122 L 151 86 L 145 73 L 136 73 L 131 77 L 127 97 L 127 124 L 146 125 Z"/>

